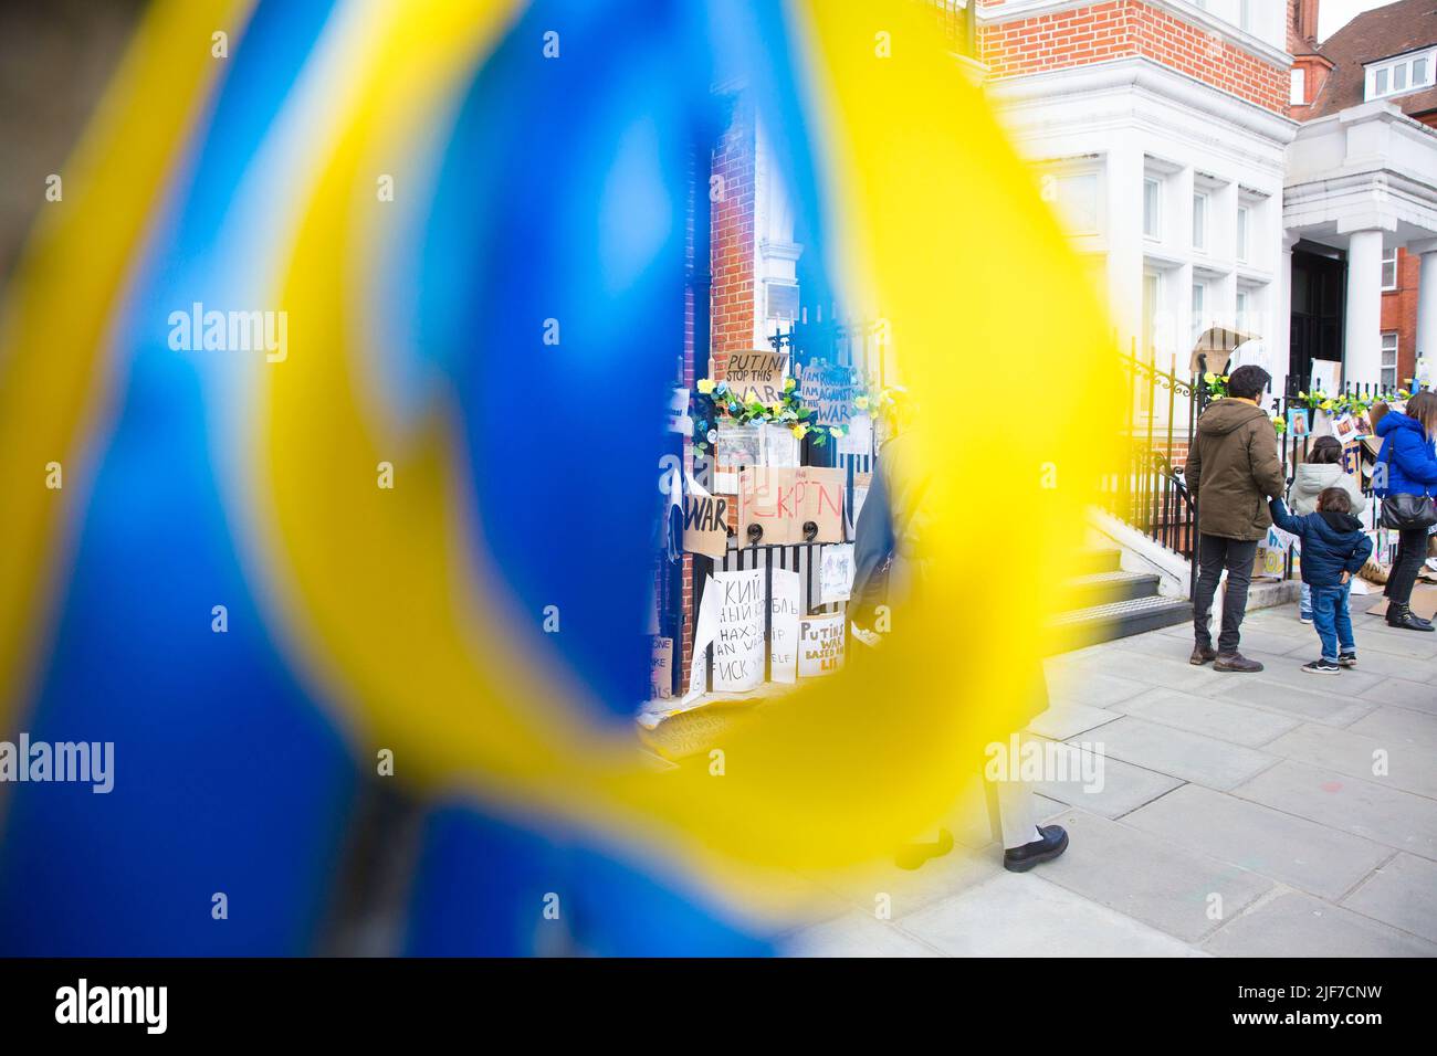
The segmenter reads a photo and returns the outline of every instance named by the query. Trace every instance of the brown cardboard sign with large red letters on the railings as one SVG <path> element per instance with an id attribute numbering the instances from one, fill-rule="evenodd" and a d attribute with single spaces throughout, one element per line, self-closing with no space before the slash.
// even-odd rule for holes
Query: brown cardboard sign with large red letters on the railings
<path id="1" fill-rule="evenodd" d="M 844 470 L 819 466 L 740 470 L 739 546 L 841 543 L 844 476 Z M 754 526 L 757 539 L 750 532 Z"/>

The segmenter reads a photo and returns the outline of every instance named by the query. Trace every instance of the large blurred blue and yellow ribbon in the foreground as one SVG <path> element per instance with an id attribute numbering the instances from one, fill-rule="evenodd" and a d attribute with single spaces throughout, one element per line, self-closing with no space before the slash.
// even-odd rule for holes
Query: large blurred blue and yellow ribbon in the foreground
<path id="1" fill-rule="evenodd" d="M 736 79 L 938 409 L 941 530 L 874 664 L 655 774 L 685 201 Z M 923 4 L 158 3 L 66 185 L 0 336 L 0 728 L 114 741 L 115 787 L 0 786 L 0 951 L 316 950 L 381 750 L 428 805 L 402 948 L 549 950 L 558 895 L 563 948 L 759 951 L 775 876 L 887 856 L 1033 693 L 1118 389 Z M 177 342 L 205 310 L 269 343 Z"/>

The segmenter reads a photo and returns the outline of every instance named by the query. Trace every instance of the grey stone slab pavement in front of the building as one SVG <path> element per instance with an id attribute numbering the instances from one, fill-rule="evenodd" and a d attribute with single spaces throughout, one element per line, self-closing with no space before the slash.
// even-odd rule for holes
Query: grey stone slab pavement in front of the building
<path id="1" fill-rule="evenodd" d="M 1039 787 L 1068 853 L 1007 874 L 967 810 L 960 848 L 915 872 L 799 881 L 806 922 L 780 948 L 1437 955 L 1437 634 L 1354 626 L 1341 675 L 1299 671 L 1319 649 L 1292 605 L 1243 625 L 1259 675 L 1191 667 L 1186 625 L 1053 658 L 1030 734 L 1104 763 L 1101 790 Z"/>

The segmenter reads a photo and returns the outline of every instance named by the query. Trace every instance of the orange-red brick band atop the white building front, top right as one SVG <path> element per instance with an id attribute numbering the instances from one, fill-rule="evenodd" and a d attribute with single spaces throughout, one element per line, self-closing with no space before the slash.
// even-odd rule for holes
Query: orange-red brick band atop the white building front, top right
<path id="1" fill-rule="evenodd" d="M 1002 4 L 984 4 L 989 11 Z M 992 79 L 1145 56 L 1276 114 L 1286 112 L 1285 66 L 1259 59 L 1142 0 L 1106 0 L 990 24 L 980 55 Z"/>

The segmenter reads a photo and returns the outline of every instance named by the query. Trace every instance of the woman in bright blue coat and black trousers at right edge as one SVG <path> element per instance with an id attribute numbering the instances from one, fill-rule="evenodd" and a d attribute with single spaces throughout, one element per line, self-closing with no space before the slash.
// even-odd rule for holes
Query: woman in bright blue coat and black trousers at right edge
<path id="1" fill-rule="evenodd" d="M 1377 422 L 1382 451 L 1377 461 L 1387 466 L 1387 486 L 1380 496 L 1437 496 L 1437 392 L 1418 392 L 1407 411 L 1388 411 Z M 1407 529 L 1398 536 L 1397 560 L 1387 579 L 1387 624 L 1407 631 L 1431 631 L 1430 621 L 1413 615 L 1408 603 L 1413 585 L 1427 557 L 1427 529 Z"/>

